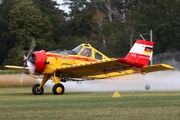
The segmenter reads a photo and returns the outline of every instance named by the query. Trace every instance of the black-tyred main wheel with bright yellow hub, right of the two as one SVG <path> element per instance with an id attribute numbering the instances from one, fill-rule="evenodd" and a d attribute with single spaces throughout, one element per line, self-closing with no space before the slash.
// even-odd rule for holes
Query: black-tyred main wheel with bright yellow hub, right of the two
<path id="1" fill-rule="evenodd" d="M 62 95 L 64 94 L 65 88 L 62 84 L 55 84 L 52 88 L 52 92 L 54 95 Z"/>

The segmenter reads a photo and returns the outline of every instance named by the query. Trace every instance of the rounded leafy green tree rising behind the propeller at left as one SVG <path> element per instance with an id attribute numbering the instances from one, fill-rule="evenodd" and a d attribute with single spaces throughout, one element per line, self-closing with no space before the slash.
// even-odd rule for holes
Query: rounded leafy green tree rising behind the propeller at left
<path id="1" fill-rule="evenodd" d="M 53 44 L 52 25 L 48 17 L 42 16 L 41 11 L 30 1 L 22 1 L 9 12 L 9 31 L 14 36 L 15 46 L 9 51 L 6 64 L 17 63 L 13 54 L 18 54 L 17 49 L 29 49 L 30 41 L 36 40 L 36 49 L 50 49 Z M 14 52 L 13 52 L 14 51 Z M 15 52 L 16 51 L 16 52 Z M 13 53 L 13 54 L 11 54 Z M 18 56 L 17 56 L 18 57 Z M 14 62 L 10 61 L 13 60 Z M 22 59 L 22 57 L 21 57 Z M 20 61 L 20 57 L 19 57 Z"/>

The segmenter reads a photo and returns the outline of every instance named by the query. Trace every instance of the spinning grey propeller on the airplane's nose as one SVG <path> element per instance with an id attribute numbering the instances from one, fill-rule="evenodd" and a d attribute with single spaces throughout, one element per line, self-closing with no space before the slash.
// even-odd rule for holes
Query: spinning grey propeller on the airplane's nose
<path id="1" fill-rule="evenodd" d="M 26 55 L 24 55 L 24 59 L 23 59 L 23 68 L 21 70 L 21 74 L 19 76 L 19 80 L 20 80 L 20 83 L 22 83 L 23 79 L 24 79 L 24 71 L 25 71 L 25 67 L 26 65 L 28 66 L 29 68 L 29 72 L 30 74 L 33 74 L 34 73 L 34 70 L 35 70 L 35 66 L 33 64 L 33 61 L 32 61 L 32 58 L 30 56 L 30 54 L 32 53 L 34 47 L 36 46 L 36 43 L 35 43 L 35 40 L 31 40 L 31 45 L 30 45 L 30 48 L 29 48 L 29 52 Z"/>

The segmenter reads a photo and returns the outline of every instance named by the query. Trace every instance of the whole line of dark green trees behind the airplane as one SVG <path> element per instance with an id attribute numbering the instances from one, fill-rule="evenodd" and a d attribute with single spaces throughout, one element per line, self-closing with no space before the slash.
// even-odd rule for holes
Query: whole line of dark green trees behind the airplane
<path id="1" fill-rule="evenodd" d="M 0 68 L 22 65 L 32 39 L 34 50 L 90 43 L 109 57 L 124 57 L 131 38 L 149 40 L 152 30 L 154 54 L 178 51 L 179 21 L 179 0 L 0 0 Z"/>

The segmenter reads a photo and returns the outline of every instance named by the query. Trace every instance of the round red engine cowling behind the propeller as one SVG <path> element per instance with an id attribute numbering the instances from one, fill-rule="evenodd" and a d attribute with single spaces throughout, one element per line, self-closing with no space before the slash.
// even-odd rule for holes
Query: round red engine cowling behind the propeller
<path id="1" fill-rule="evenodd" d="M 35 65 L 35 72 L 37 73 L 42 73 L 46 67 L 46 60 L 47 60 L 47 55 L 45 50 L 41 51 L 35 51 L 31 55 L 32 60 L 31 62 L 34 62 Z"/>

